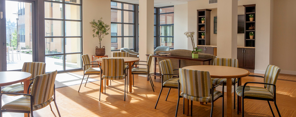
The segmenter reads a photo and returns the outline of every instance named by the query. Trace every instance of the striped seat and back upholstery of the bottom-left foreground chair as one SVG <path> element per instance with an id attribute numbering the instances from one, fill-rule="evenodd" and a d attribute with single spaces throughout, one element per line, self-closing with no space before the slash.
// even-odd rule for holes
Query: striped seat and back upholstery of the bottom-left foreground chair
<path id="1" fill-rule="evenodd" d="M 36 76 L 31 95 L 33 95 L 33 111 L 49 105 L 54 95 L 54 81 L 57 70 Z M 30 96 L 24 96 L 1 107 L 1 109 L 30 111 Z"/>

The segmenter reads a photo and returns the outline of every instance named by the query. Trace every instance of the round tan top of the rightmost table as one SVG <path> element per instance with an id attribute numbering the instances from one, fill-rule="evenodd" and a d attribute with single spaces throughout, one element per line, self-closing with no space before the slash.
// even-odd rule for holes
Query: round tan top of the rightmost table
<path id="1" fill-rule="evenodd" d="M 209 71 L 211 78 L 241 78 L 250 74 L 250 71 L 242 68 L 216 65 L 194 65 L 186 66 L 182 69 Z"/>

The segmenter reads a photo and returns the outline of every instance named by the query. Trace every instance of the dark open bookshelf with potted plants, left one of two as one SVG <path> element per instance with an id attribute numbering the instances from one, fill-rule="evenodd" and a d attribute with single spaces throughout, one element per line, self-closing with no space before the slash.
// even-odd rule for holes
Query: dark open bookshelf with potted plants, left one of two
<path id="1" fill-rule="evenodd" d="M 197 45 L 210 45 L 210 30 L 211 30 L 211 9 L 197 10 Z M 205 23 L 202 23 L 202 18 L 205 18 Z M 205 27 L 205 30 L 200 30 Z M 205 38 L 202 39 L 202 32 L 205 33 Z"/>

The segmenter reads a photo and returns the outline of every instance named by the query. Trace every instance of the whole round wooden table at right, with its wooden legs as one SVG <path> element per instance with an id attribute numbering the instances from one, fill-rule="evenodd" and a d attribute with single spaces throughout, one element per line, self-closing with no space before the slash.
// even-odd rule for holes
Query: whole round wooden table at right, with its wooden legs
<path id="1" fill-rule="evenodd" d="M 182 69 L 191 69 L 191 70 L 199 70 L 199 71 L 209 71 L 211 78 L 226 78 L 226 87 L 227 87 L 227 117 L 232 116 L 232 96 L 231 96 L 231 78 L 242 78 L 246 77 L 250 74 L 250 71 L 237 68 L 237 67 L 229 67 L 229 66 L 215 66 L 215 65 L 195 65 L 195 66 L 186 66 Z M 242 80 L 239 80 L 238 85 L 242 85 Z M 235 92 L 234 92 L 235 93 Z M 239 97 L 239 106 L 238 109 L 241 111 L 241 97 Z M 185 115 L 189 115 L 189 100 L 185 99 Z"/>

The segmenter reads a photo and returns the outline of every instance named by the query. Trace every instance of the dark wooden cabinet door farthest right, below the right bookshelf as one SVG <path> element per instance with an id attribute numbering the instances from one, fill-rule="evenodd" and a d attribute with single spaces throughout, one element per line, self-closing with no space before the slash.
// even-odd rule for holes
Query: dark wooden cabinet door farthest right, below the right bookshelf
<path id="1" fill-rule="evenodd" d="M 245 48 L 244 51 L 244 68 L 255 69 L 255 49 Z"/>

